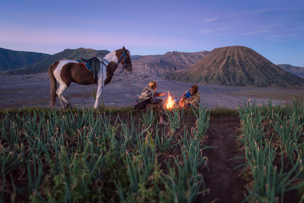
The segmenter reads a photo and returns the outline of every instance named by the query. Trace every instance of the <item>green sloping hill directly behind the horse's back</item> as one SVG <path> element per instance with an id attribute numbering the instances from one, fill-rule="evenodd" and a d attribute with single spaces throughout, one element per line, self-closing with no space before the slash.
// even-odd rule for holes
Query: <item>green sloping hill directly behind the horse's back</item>
<path id="1" fill-rule="evenodd" d="M 61 59 L 80 59 L 80 56 L 84 58 L 91 58 L 93 56 L 104 57 L 110 53 L 107 50 L 95 50 L 95 49 L 65 49 L 63 52 L 59 52 L 54 55 L 49 55 L 42 60 L 23 66 L 21 69 L 8 72 L 11 75 L 18 74 L 35 74 L 35 73 L 46 73 L 50 65 Z"/>

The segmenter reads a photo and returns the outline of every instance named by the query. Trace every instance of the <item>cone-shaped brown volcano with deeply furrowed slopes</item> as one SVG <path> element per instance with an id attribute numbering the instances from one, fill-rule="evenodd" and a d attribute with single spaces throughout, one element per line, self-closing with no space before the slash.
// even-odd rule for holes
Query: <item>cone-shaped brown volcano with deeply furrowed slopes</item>
<path id="1" fill-rule="evenodd" d="M 268 59 L 244 46 L 215 48 L 190 68 L 168 73 L 163 78 L 233 86 L 286 87 L 304 84 L 303 78 L 278 68 Z"/>

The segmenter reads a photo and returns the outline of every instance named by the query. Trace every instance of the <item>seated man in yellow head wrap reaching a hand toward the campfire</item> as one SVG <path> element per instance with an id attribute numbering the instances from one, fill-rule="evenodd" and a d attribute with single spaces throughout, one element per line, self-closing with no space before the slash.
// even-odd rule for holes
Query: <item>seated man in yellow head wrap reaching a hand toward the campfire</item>
<path id="1" fill-rule="evenodd" d="M 158 124 L 167 125 L 168 122 L 164 121 L 164 107 L 161 103 L 162 99 L 157 99 L 161 95 L 166 93 L 156 93 L 156 81 L 152 81 L 149 83 L 148 87 L 145 87 L 139 97 L 136 99 L 136 103 L 134 104 L 135 109 L 143 110 L 146 108 L 157 109 L 157 114 L 159 117 Z"/>

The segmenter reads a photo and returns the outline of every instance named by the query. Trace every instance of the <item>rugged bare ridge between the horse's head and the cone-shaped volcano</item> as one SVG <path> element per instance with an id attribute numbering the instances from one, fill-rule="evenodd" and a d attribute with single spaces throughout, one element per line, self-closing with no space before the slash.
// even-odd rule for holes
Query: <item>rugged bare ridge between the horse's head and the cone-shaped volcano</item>
<path id="1" fill-rule="evenodd" d="M 141 77 L 160 77 L 166 73 L 187 69 L 208 53 L 209 51 L 167 52 L 164 55 L 145 55 L 132 61 L 133 70 L 131 74 Z"/>

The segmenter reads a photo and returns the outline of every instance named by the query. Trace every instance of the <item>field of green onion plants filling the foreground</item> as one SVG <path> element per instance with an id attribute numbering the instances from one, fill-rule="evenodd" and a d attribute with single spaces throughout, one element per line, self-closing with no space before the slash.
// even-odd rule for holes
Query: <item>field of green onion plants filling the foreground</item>
<path id="1" fill-rule="evenodd" d="M 220 187 L 208 179 L 216 111 L 166 110 L 160 126 L 132 108 L 1 110 L 0 202 L 206 202 Z M 225 162 L 242 162 L 226 172 L 242 183 L 239 202 L 303 202 L 304 103 L 235 112 L 238 156 Z"/>

